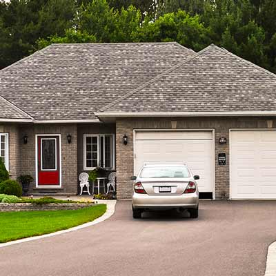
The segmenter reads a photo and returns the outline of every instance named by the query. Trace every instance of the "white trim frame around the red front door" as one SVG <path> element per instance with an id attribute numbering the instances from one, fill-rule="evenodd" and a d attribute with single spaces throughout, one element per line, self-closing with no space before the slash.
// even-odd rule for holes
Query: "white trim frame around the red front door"
<path id="1" fill-rule="evenodd" d="M 37 146 L 37 140 L 39 136 L 58 136 L 59 137 L 59 185 L 39 185 L 39 168 L 37 166 L 38 164 L 38 146 Z M 35 135 L 35 188 L 61 188 L 61 135 L 60 134 L 36 134 Z"/>

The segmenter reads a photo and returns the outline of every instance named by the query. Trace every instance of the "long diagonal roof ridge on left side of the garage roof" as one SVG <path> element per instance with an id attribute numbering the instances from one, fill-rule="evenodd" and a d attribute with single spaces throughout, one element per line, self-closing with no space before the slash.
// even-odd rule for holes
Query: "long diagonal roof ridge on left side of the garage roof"
<path id="1" fill-rule="evenodd" d="M 202 49 L 201 51 L 197 52 L 195 55 L 188 57 L 188 59 L 181 61 L 180 63 L 177 63 L 175 66 L 172 66 L 172 68 L 160 73 L 159 75 L 157 75 L 156 77 L 154 77 L 153 79 L 150 79 L 150 81 L 147 81 L 146 83 L 143 83 L 141 86 L 135 88 L 135 90 L 131 90 L 130 92 L 126 93 L 126 95 L 119 97 L 118 99 L 116 99 L 115 101 L 112 101 L 112 103 L 109 103 L 107 106 L 103 106 L 103 108 L 100 108 L 98 110 L 98 112 L 103 112 L 104 110 L 114 106 L 116 103 L 118 103 L 119 101 L 126 99 L 127 97 L 129 97 L 130 95 L 135 94 L 137 91 L 145 88 L 146 86 L 148 86 L 150 83 L 152 83 L 153 81 L 156 81 L 157 79 L 160 79 L 161 77 L 163 77 L 164 75 L 168 74 L 169 72 L 172 72 L 173 70 L 179 68 L 179 66 L 188 63 L 190 60 L 194 59 L 195 57 L 198 57 L 199 55 L 201 55 L 202 53 L 206 52 L 206 50 L 208 50 L 210 47 L 212 47 L 213 45 L 209 45 L 206 48 Z"/>

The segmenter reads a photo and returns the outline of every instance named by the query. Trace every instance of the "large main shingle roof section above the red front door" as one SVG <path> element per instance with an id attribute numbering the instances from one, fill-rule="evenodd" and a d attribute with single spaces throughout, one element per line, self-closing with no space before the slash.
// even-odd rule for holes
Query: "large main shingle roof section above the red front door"
<path id="1" fill-rule="evenodd" d="M 52 44 L 0 71 L 0 95 L 34 119 L 94 112 L 184 61 L 178 43 Z"/>

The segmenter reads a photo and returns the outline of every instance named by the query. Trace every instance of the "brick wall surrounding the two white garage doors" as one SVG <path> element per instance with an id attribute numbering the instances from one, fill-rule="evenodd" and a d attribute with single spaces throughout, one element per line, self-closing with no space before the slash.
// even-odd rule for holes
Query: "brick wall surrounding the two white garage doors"
<path id="1" fill-rule="evenodd" d="M 175 123 L 176 122 L 176 123 Z M 176 126 L 175 126 L 176 124 Z M 275 120 L 265 117 L 186 117 L 186 118 L 132 118 L 117 119 L 116 122 L 116 162 L 117 197 L 130 198 L 133 175 L 133 130 L 134 129 L 215 129 L 215 197 L 225 193 L 229 197 L 229 129 L 230 128 L 273 128 Z M 123 144 L 123 136 L 128 135 L 128 145 Z M 219 137 L 226 137 L 227 144 L 219 144 Z M 217 165 L 217 154 L 226 152 L 226 166 Z"/>

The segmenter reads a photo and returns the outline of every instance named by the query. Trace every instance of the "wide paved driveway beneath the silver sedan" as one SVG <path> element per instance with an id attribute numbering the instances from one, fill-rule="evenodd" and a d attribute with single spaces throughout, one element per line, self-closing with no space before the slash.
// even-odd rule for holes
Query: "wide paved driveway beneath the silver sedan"
<path id="1" fill-rule="evenodd" d="M 261 276 L 275 226 L 276 201 L 201 201 L 198 219 L 138 220 L 130 201 L 119 201 L 95 226 L 0 248 L 0 274 Z"/>

